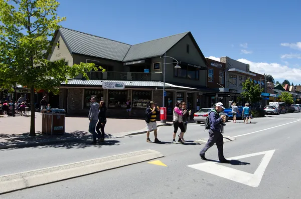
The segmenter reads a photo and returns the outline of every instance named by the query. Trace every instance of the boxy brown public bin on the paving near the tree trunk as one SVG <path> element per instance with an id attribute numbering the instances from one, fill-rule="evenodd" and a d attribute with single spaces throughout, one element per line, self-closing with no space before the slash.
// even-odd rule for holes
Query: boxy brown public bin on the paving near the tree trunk
<path id="1" fill-rule="evenodd" d="M 42 113 L 42 133 L 60 135 L 65 133 L 65 110 L 47 109 Z"/>

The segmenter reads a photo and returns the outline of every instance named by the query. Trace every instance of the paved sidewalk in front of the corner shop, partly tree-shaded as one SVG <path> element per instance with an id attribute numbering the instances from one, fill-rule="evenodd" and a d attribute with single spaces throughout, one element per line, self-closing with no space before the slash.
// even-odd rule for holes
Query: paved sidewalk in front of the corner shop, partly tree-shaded
<path id="1" fill-rule="evenodd" d="M 0 118 L 0 149 L 12 147 L 31 147 L 50 145 L 64 142 L 90 142 L 92 135 L 88 132 L 89 120 L 85 117 L 66 117 L 66 133 L 50 136 L 41 133 L 42 115 L 36 113 L 36 135 L 29 136 L 30 116 L 1 117 Z M 158 126 L 172 125 L 172 122 Z M 120 130 L 121 129 L 121 130 Z M 105 126 L 106 138 L 123 137 L 146 132 L 143 119 L 112 119 L 108 118 Z"/>

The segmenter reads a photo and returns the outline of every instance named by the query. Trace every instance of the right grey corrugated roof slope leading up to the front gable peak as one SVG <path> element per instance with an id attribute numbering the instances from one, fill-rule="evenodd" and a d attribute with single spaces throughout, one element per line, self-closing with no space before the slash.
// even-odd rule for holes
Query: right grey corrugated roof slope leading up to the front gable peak
<path id="1" fill-rule="evenodd" d="M 130 47 L 123 62 L 163 55 L 189 32 L 136 44 Z"/>

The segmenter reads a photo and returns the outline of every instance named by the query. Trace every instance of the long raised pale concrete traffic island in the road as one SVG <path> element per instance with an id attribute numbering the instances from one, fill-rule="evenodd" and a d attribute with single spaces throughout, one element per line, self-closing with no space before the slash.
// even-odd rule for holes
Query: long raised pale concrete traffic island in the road
<path id="1" fill-rule="evenodd" d="M 164 157 L 155 150 L 141 150 L 88 161 L 0 176 L 0 194 L 49 184 Z"/>

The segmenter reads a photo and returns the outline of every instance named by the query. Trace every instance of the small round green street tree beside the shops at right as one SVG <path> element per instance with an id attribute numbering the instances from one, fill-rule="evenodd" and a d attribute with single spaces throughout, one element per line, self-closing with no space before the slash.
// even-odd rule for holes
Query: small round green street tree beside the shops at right
<path id="1" fill-rule="evenodd" d="M 249 100 L 252 104 L 258 102 L 261 99 L 261 93 L 264 88 L 260 89 L 258 84 L 254 84 L 254 80 L 247 79 L 242 83 L 242 89 L 244 90 L 241 95 Z"/>

